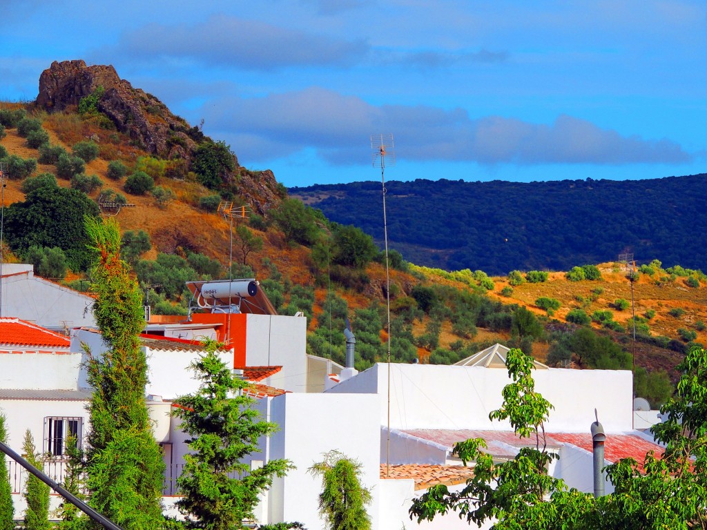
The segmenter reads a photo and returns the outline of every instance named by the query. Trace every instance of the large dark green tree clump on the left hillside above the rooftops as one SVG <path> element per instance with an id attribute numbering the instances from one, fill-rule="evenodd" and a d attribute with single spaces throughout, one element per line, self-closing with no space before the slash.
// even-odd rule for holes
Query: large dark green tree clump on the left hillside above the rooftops
<path id="1" fill-rule="evenodd" d="M 98 206 L 76 189 L 41 186 L 25 201 L 6 208 L 5 235 L 10 247 L 22 254 L 30 247 L 59 247 L 72 271 L 90 264 L 83 216 L 98 216 Z"/>

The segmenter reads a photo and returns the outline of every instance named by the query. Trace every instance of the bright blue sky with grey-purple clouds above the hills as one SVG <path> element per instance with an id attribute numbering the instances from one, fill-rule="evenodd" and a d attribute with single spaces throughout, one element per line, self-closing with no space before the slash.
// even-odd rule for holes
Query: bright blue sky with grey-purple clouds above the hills
<path id="1" fill-rule="evenodd" d="M 703 0 L 0 0 L 0 99 L 112 64 L 286 186 L 707 172 Z"/>

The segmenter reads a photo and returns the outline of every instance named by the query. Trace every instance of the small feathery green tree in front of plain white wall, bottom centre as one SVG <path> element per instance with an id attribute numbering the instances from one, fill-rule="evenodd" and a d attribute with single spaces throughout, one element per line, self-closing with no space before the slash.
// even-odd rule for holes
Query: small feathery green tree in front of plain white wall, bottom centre
<path id="1" fill-rule="evenodd" d="M 319 512 L 329 530 L 370 530 L 366 505 L 372 497 L 361 484 L 361 464 L 338 451 L 322 455 L 308 472 L 322 477 Z"/>

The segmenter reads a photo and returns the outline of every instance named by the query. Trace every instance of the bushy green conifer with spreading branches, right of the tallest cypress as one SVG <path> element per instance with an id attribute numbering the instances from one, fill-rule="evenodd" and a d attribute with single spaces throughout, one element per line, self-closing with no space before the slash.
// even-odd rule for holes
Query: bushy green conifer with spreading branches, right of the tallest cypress
<path id="1" fill-rule="evenodd" d="M 231 530 L 253 519 L 259 494 L 273 479 L 285 476 L 291 464 L 267 461 L 250 469 L 245 458 L 258 452 L 260 437 L 276 432 L 277 425 L 264 421 L 247 395 L 248 383 L 234 377 L 216 353 L 220 344 L 206 341 L 206 353 L 192 363 L 201 382 L 195 394 L 181 396 L 175 416 L 189 435 L 193 453 L 185 455 L 177 488 L 183 497 L 177 507 L 187 517 L 188 528 Z"/>

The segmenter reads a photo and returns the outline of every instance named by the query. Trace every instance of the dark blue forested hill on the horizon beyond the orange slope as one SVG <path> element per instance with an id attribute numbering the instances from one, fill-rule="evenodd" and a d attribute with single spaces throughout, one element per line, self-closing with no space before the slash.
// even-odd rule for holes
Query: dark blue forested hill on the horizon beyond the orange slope
<path id="1" fill-rule="evenodd" d="M 447 270 L 568 270 L 633 252 L 707 269 L 707 174 L 633 181 L 386 182 L 388 239 Z M 327 218 L 383 240 L 380 182 L 288 190 Z"/>

